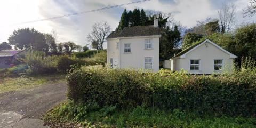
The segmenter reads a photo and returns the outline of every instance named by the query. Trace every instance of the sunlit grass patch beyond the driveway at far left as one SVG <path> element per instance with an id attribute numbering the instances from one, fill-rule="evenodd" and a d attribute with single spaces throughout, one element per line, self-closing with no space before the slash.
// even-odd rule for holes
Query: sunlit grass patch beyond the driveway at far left
<path id="1" fill-rule="evenodd" d="M 10 91 L 20 91 L 33 89 L 46 83 L 58 83 L 64 81 L 62 75 L 41 75 L 41 76 L 21 76 L 5 77 L 0 79 L 0 94 Z"/>

